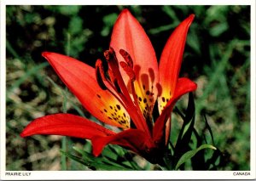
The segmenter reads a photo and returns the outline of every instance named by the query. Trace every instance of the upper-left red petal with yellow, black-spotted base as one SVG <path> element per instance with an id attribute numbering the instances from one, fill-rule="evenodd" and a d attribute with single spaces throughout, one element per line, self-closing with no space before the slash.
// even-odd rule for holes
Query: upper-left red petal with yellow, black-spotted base
<path id="1" fill-rule="evenodd" d="M 113 126 L 129 127 L 129 115 L 111 93 L 99 87 L 94 68 L 62 54 L 44 52 L 43 56 L 90 114 Z M 115 107 L 119 109 L 115 109 L 117 110 L 115 111 Z M 120 117 L 125 113 L 125 117 L 123 117 L 126 123 L 121 125 L 118 118 L 113 119 L 114 112 Z"/>

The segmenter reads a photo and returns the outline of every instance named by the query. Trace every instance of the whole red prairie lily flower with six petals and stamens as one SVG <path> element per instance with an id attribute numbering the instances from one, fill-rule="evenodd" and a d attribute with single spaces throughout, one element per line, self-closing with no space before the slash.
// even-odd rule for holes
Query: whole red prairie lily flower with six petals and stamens
<path id="1" fill-rule="evenodd" d="M 84 108 L 101 122 L 120 127 L 122 131 L 115 133 L 81 116 L 55 114 L 31 122 L 21 137 L 57 134 L 90 139 L 95 156 L 101 154 L 106 144 L 119 144 L 148 161 L 159 161 L 168 142 L 173 106 L 184 93 L 196 89 L 195 82 L 178 77 L 193 19 L 191 14 L 173 31 L 159 66 L 143 27 L 127 9 L 119 14 L 110 48 L 104 53 L 108 72 L 101 59 L 92 68 L 77 59 L 44 52 L 44 58 Z M 160 116 L 154 122 L 152 112 L 156 100 Z"/>

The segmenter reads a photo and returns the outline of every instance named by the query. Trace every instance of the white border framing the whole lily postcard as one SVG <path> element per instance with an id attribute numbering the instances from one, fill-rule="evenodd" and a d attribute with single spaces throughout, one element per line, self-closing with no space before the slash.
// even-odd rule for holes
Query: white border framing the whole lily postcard
<path id="1" fill-rule="evenodd" d="M 255 0 L 158 0 L 158 1 L 144 1 L 144 0 L 94 0 L 94 1 L 82 1 L 82 0 L 73 0 L 73 1 L 63 1 L 63 0 L 44 0 L 44 1 L 35 1 L 35 0 L 1 0 L 1 76 L 0 76 L 0 93 L 1 93 L 1 103 L 0 103 L 0 125 L 1 125 L 1 179 L 6 180 L 74 180 L 74 179 L 255 179 L 255 169 L 256 169 L 256 152 L 255 152 Z M 114 171 L 32 171 L 32 172 L 7 172 L 5 166 L 5 6 L 6 5 L 106 5 L 106 4 L 147 4 L 147 5 L 160 5 L 160 4 L 170 4 L 170 5 L 251 5 L 251 171 L 241 172 L 241 171 L 132 171 L 132 172 L 114 172 Z M 242 149 L 242 148 L 241 148 Z M 19 173 L 20 175 L 29 175 L 29 176 L 6 176 L 6 173 Z M 250 173 L 249 176 L 239 176 L 239 173 Z"/>

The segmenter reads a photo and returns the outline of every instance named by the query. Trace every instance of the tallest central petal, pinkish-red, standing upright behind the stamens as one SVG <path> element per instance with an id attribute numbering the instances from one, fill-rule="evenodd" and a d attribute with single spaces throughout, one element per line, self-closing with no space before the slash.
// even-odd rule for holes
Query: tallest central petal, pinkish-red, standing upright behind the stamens
<path id="1" fill-rule="evenodd" d="M 124 9 L 119 14 L 119 18 L 113 26 L 110 47 L 116 52 L 119 52 L 119 49 L 124 49 L 131 55 L 136 74 L 134 83 L 137 99 L 142 112 L 149 112 L 151 115 L 157 96 L 155 85 L 159 80 L 157 59 L 154 48 L 142 25 L 128 9 Z M 124 60 L 120 54 L 117 54 L 117 58 L 119 61 Z M 121 70 L 121 74 L 125 84 L 128 85 L 129 76 L 123 70 Z"/>

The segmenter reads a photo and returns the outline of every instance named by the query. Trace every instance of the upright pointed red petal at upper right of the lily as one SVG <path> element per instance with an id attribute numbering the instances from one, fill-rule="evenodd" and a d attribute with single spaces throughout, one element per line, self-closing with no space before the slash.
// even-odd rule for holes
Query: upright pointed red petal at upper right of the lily
<path id="1" fill-rule="evenodd" d="M 189 15 L 186 20 L 183 20 L 183 22 L 177 26 L 166 42 L 166 46 L 161 54 L 159 70 L 162 91 L 158 99 L 160 112 L 174 94 L 189 25 L 194 20 L 194 17 L 194 14 Z"/>

